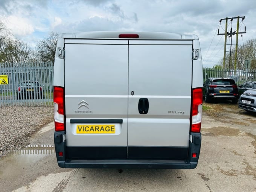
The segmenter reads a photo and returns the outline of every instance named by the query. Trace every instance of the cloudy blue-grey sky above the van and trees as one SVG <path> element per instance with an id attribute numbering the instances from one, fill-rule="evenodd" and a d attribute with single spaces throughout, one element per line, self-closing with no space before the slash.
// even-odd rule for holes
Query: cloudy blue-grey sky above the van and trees
<path id="1" fill-rule="evenodd" d="M 0 0 L 0 19 L 15 38 L 30 46 L 49 32 L 102 30 L 157 31 L 198 35 L 203 67 L 224 55 L 226 17 L 239 20 L 238 45 L 256 37 L 256 0 Z M 237 20 L 228 21 L 228 31 Z M 242 35 L 242 37 L 241 37 Z M 232 43 L 236 36 L 232 36 Z M 230 38 L 227 38 L 230 44 Z M 227 50 L 230 45 L 227 46 Z"/>

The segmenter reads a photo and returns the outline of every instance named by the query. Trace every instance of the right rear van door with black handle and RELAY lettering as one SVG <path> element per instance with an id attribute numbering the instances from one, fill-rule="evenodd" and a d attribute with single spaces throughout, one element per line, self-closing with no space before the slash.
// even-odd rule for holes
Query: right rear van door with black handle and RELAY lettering
<path id="1" fill-rule="evenodd" d="M 129 41 L 128 158 L 187 159 L 192 44 Z"/>

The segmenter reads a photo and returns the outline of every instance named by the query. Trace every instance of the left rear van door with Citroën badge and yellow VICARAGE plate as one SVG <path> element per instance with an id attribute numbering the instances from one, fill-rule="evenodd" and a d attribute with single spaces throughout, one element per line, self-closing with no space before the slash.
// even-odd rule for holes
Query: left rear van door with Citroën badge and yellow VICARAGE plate
<path id="1" fill-rule="evenodd" d="M 67 159 L 126 158 L 128 40 L 65 39 L 64 62 Z"/>

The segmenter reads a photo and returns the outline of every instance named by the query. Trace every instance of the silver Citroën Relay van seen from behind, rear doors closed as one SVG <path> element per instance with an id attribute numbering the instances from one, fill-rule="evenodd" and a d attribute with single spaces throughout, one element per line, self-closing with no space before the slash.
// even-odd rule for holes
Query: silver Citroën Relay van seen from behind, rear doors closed
<path id="1" fill-rule="evenodd" d="M 61 34 L 53 83 L 60 167 L 197 166 L 203 73 L 196 35 Z"/>

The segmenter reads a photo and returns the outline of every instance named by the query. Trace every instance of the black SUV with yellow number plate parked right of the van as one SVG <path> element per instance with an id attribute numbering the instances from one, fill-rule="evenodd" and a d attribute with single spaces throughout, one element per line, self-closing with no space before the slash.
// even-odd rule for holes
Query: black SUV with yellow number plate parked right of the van
<path id="1" fill-rule="evenodd" d="M 237 103 L 238 87 L 231 78 L 209 78 L 203 84 L 203 95 L 205 102 L 213 99 L 229 99 L 232 103 Z"/>

